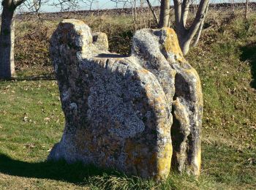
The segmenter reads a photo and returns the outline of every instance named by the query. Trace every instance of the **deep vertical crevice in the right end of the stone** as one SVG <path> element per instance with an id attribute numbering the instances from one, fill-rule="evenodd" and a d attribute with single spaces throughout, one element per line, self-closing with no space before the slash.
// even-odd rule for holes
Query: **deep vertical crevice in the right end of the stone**
<path id="1" fill-rule="evenodd" d="M 173 156 L 171 165 L 174 170 L 183 172 L 188 164 L 188 145 L 190 135 L 189 118 L 189 83 L 181 73 L 175 76 L 175 95 L 173 96 L 173 125 L 170 134 L 173 145 Z"/>

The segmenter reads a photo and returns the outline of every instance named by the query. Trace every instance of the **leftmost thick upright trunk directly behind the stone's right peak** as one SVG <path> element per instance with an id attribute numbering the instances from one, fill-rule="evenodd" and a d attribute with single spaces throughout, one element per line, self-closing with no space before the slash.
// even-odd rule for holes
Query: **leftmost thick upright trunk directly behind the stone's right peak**
<path id="1" fill-rule="evenodd" d="M 159 28 L 169 26 L 170 0 L 161 0 Z"/>

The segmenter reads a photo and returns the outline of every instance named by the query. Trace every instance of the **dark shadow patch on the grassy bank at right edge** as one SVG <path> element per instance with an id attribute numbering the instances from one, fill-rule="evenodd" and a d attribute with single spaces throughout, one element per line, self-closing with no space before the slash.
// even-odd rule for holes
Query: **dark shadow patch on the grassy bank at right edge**
<path id="1" fill-rule="evenodd" d="M 241 61 L 249 61 L 251 64 L 252 88 L 256 88 L 256 42 L 241 47 Z"/>

